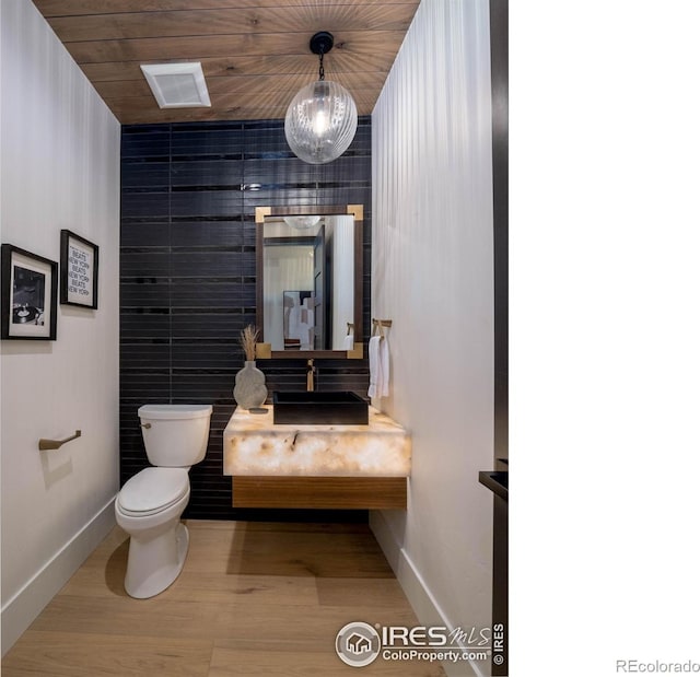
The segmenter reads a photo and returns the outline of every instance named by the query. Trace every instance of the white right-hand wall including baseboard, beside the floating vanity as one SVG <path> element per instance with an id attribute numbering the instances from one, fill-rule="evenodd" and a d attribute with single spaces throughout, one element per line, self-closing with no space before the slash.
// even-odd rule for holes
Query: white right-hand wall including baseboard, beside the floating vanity
<path id="1" fill-rule="evenodd" d="M 463 629 L 491 622 L 490 97 L 488 0 L 422 0 L 372 116 L 372 316 L 394 322 L 381 407 L 413 459 L 408 511 L 371 524 L 421 622 Z"/>

